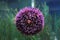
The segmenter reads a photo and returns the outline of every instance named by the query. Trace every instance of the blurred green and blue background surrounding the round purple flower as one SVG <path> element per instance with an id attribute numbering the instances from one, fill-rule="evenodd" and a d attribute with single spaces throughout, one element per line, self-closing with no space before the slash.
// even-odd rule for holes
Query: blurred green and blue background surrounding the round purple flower
<path id="1" fill-rule="evenodd" d="M 60 1 L 34 0 L 45 17 L 44 30 L 33 36 L 21 34 L 15 24 L 17 12 L 31 7 L 32 0 L 0 0 L 0 40 L 60 40 Z"/>

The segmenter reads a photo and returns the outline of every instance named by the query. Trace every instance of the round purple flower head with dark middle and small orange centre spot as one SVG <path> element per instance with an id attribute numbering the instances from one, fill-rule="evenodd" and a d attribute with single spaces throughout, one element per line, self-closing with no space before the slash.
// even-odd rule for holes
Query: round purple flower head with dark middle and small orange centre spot
<path id="1" fill-rule="evenodd" d="M 16 27 L 26 35 L 36 34 L 44 27 L 44 16 L 37 8 L 25 7 L 16 15 Z"/>

